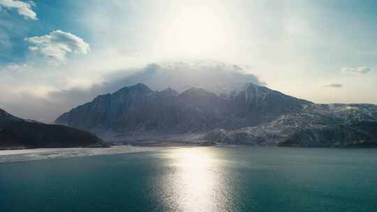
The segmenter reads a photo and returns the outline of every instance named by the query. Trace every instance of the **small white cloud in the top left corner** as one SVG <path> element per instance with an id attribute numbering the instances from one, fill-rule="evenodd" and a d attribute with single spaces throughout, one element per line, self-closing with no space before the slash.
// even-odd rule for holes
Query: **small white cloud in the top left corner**
<path id="1" fill-rule="evenodd" d="M 38 20 L 36 13 L 31 9 L 36 6 L 34 1 L 0 0 L 0 6 L 17 10 L 17 13 L 26 19 Z"/>

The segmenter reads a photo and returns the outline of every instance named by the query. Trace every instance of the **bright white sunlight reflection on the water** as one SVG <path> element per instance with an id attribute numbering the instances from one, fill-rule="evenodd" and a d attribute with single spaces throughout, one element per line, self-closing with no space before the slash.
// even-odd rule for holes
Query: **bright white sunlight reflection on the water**
<path id="1" fill-rule="evenodd" d="M 214 152 L 205 148 L 178 149 L 170 157 L 177 168 L 172 181 L 167 183 L 175 209 L 222 211 L 221 177 Z"/>

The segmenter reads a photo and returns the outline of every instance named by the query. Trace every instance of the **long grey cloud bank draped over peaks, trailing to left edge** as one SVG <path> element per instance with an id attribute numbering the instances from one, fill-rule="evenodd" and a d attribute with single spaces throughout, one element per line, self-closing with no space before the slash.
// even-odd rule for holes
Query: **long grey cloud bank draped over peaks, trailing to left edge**
<path id="1" fill-rule="evenodd" d="M 196 86 L 215 93 L 242 89 L 248 82 L 266 85 L 249 71 L 246 67 L 212 61 L 149 63 L 142 68 L 127 68 L 105 74 L 102 82 L 92 84 L 87 89 L 75 87 L 48 90 L 46 88 L 47 91 L 44 90 L 44 93 L 34 95 L 27 89 L 9 93 L 9 87 L 1 89 L 0 86 L 0 95 L 4 96 L 0 104 L 22 118 L 51 122 L 62 112 L 90 101 L 99 94 L 112 93 L 138 82 L 158 91 L 167 87 L 184 91 Z M 20 105 L 20 102 L 23 104 Z"/>

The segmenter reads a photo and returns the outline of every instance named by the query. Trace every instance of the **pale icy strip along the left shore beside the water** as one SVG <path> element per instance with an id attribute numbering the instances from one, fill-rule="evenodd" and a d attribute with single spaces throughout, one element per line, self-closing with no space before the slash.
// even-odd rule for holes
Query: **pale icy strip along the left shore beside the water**
<path id="1" fill-rule="evenodd" d="M 165 147 L 166 148 L 166 147 Z M 59 148 L 59 149 L 16 149 L 0 151 L 0 162 L 45 160 L 78 156 L 98 156 L 120 153 L 158 151 L 163 147 L 111 146 L 109 148 Z"/>

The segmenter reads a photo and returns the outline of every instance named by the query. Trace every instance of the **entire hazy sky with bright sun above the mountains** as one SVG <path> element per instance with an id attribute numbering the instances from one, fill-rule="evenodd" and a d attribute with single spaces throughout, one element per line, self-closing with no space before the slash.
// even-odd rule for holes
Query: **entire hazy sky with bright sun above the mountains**
<path id="1" fill-rule="evenodd" d="M 377 103 L 376 38 L 374 0 L 0 0 L 0 108 L 52 121 L 114 78 L 179 61 L 316 103 Z"/>

